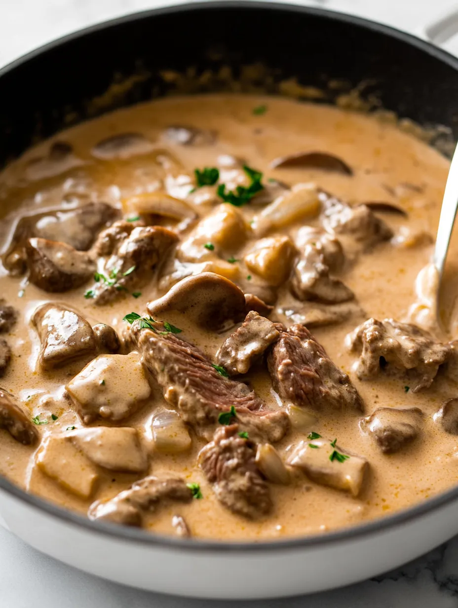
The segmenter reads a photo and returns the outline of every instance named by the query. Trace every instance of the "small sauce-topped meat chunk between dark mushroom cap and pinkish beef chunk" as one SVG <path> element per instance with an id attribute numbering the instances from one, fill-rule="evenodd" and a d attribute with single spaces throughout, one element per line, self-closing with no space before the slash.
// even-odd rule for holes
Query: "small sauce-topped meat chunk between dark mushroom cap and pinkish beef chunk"
<path id="1" fill-rule="evenodd" d="M 246 374 L 253 362 L 260 358 L 279 336 L 274 323 L 251 311 L 238 330 L 221 345 L 217 352 L 217 363 L 222 365 L 230 376 Z"/>

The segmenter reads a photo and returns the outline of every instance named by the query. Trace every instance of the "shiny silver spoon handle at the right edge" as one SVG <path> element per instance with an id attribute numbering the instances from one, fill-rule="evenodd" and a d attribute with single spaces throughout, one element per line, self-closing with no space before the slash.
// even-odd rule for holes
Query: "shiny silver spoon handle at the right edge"
<path id="1" fill-rule="evenodd" d="M 442 277 L 445 258 L 447 257 L 448 246 L 452 235 L 453 224 L 458 209 L 458 145 L 453 153 L 450 164 L 445 192 L 442 199 L 442 209 L 440 210 L 439 228 L 435 239 L 433 263 Z"/>

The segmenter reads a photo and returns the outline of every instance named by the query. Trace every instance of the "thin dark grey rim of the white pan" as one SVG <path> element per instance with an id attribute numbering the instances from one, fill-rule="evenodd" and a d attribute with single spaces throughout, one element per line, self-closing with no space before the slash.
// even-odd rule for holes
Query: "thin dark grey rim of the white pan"
<path id="1" fill-rule="evenodd" d="M 283 12 L 319 16 L 324 19 L 329 19 L 330 21 L 339 21 L 343 24 L 356 25 L 364 29 L 372 30 L 373 32 L 382 33 L 390 38 L 395 38 L 398 41 L 408 43 L 411 46 L 422 50 L 425 52 L 425 54 L 437 58 L 458 71 L 458 58 L 449 54 L 445 50 L 441 49 L 440 47 L 436 47 L 432 43 L 422 40 L 411 33 L 404 32 L 403 30 L 399 30 L 395 27 L 387 26 L 376 21 L 371 21 L 369 19 L 349 15 L 347 13 L 336 12 L 333 10 L 288 4 L 287 2 L 265 2 L 261 0 L 216 0 L 209 2 L 187 2 L 184 4 L 169 5 L 159 7 L 157 9 L 130 13 L 114 19 L 98 22 L 92 26 L 85 27 L 61 36 L 60 38 L 33 49 L 27 54 L 24 54 L 10 63 L 5 64 L 5 66 L 0 68 L 0 78 L 15 70 L 16 67 L 27 63 L 27 61 L 32 60 L 48 50 L 55 49 L 56 47 L 60 47 L 69 41 L 83 38 L 88 34 L 102 29 L 116 27 L 117 25 L 125 22 L 141 21 L 144 18 L 154 17 L 156 15 L 175 15 L 176 13 L 200 12 L 208 9 L 258 9 L 262 11 L 274 12 L 281 10 Z M 449 505 L 449 503 L 458 501 L 457 485 L 446 492 L 442 492 L 437 496 L 426 499 L 424 502 L 417 503 L 414 506 L 400 510 L 392 515 L 378 517 L 377 519 L 369 522 L 344 527 L 336 531 L 310 534 L 308 536 L 288 537 L 288 539 L 285 540 L 232 542 L 217 540 L 213 541 L 210 539 L 202 540 L 195 538 L 180 539 L 178 537 L 151 533 L 146 530 L 130 528 L 116 523 L 92 521 L 78 513 L 66 510 L 57 504 L 26 492 L 25 490 L 19 488 L 19 486 L 10 482 L 10 480 L 3 475 L 0 475 L 0 491 L 4 491 L 7 494 L 10 494 L 14 499 L 27 503 L 28 506 L 36 508 L 40 511 L 44 511 L 47 516 L 56 517 L 57 519 L 62 520 L 63 523 L 68 523 L 74 525 L 75 527 L 83 528 L 83 530 L 103 536 L 109 536 L 114 540 L 122 540 L 126 542 L 131 541 L 136 544 L 152 545 L 154 547 L 162 547 L 169 550 L 175 549 L 179 551 L 184 550 L 198 552 L 207 551 L 213 553 L 226 553 L 227 551 L 277 552 L 285 550 L 297 550 L 301 548 L 310 549 L 313 547 L 324 547 L 325 545 L 332 545 L 342 541 L 353 541 L 355 539 L 360 539 L 361 537 L 368 537 L 372 534 L 380 534 L 384 531 L 391 530 L 392 528 L 399 527 L 405 523 L 412 522 L 412 520 L 420 519 L 421 517 L 430 514 L 432 511 Z"/>

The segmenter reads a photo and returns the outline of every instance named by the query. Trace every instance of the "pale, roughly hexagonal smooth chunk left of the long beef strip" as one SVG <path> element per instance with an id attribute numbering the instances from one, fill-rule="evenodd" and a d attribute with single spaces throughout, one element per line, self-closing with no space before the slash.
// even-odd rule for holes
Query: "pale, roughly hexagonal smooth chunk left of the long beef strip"
<path id="1" fill-rule="evenodd" d="M 96 357 L 71 379 L 66 390 L 85 424 L 96 418 L 123 420 L 151 394 L 136 352 Z"/>

